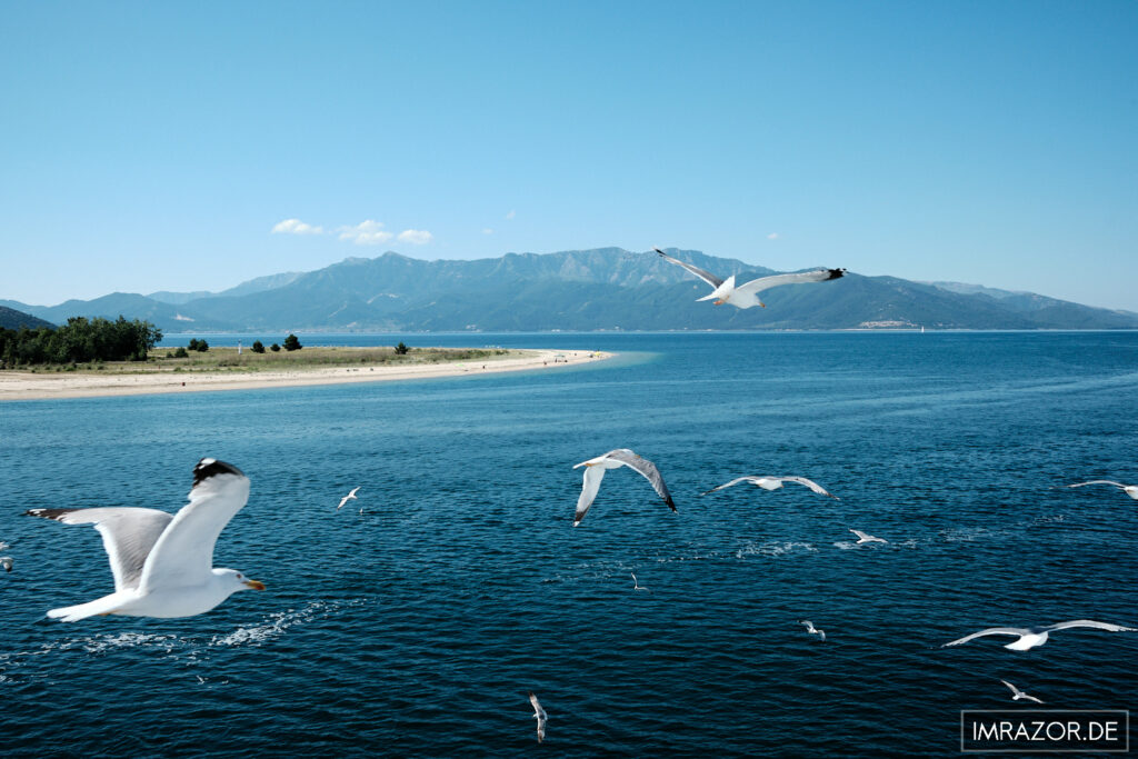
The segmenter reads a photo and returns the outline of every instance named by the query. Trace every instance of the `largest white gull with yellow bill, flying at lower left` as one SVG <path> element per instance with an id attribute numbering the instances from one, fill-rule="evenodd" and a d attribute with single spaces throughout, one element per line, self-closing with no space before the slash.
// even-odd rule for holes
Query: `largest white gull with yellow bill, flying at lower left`
<path id="1" fill-rule="evenodd" d="M 110 559 L 115 592 L 48 617 L 74 622 L 94 614 L 193 617 L 238 591 L 265 586 L 234 569 L 214 569 L 217 536 L 249 498 L 249 479 L 237 467 L 203 459 L 193 468 L 190 502 L 176 514 L 137 506 L 31 509 L 27 514 L 65 525 L 94 525 Z"/>

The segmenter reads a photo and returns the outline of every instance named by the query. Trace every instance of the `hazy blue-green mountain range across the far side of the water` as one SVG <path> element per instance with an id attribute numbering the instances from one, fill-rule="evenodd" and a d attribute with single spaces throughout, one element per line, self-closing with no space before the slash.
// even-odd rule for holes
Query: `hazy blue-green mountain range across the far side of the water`
<path id="1" fill-rule="evenodd" d="M 724 278 L 736 274 L 740 282 L 775 273 L 696 250 L 668 253 Z M 55 323 L 123 315 L 166 332 L 1138 329 L 1138 314 L 1127 311 L 855 272 L 767 290 L 766 308 L 695 303 L 708 292 L 704 282 L 654 253 L 620 248 L 477 261 L 422 261 L 389 251 L 312 272 L 259 277 L 220 292 L 113 292 L 56 306 L 14 300 L 0 306 Z"/>

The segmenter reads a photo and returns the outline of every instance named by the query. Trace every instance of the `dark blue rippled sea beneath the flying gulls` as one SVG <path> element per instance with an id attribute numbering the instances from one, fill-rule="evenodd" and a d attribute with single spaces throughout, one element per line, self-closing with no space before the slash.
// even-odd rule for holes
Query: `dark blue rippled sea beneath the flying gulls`
<path id="1" fill-rule="evenodd" d="M 300 337 L 619 355 L 0 405 L 5 756 L 945 756 L 962 709 L 1020 708 L 1000 679 L 1138 707 L 1138 633 L 941 647 L 1138 626 L 1138 503 L 1052 488 L 1138 481 L 1138 333 Z M 572 465 L 617 447 L 677 513 L 619 469 L 574 528 Z M 113 581 L 93 529 L 23 512 L 175 511 L 203 456 L 253 484 L 215 563 L 267 589 L 190 619 L 46 619 Z M 742 475 L 841 500 L 700 495 Z"/>

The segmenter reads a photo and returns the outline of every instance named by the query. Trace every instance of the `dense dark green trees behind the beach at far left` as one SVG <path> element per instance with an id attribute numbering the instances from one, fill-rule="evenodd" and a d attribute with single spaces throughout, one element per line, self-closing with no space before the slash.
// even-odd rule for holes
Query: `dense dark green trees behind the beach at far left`
<path id="1" fill-rule="evenodd" d="M 0 328 L 0 365 L 146 361 L 159 340 L 162 330 L 150 322 L 72 316 L 59 328 Z"/>

